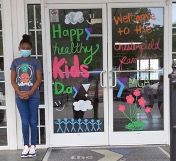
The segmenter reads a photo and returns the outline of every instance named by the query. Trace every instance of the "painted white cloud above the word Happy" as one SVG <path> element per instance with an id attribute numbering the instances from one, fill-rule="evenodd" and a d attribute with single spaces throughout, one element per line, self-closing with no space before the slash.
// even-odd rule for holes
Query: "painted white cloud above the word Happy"
<path id="1" fill-rule="evenodd" d="M 82 23 L 84 21 L 83 13 L 78 11 L 78 12 L 69 12 L 65 16 L 65 23 L 66 24 L 77 24 L 77 23 Z"/>

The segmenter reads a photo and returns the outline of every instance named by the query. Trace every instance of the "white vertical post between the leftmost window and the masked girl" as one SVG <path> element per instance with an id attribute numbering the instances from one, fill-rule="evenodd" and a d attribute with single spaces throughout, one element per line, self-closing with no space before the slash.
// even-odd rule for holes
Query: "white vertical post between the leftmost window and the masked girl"
<path id="1" fill-rule="evenodd" d="M 10 65 L 13 60 L 12 45 L 12 23 L 11 23 L 11 1 L 1 0 L 2 5 L 2 30 L 3 30 L 3 54 L 4 54 L 4 75 L 5 75 L 5 98 L 6 105 L 2 107 L 6 109 L 7 122 L 7 146 L 0 146 L 1 149 L 16 149 L 16 109 L 15 95 L 11 86 Z"/>

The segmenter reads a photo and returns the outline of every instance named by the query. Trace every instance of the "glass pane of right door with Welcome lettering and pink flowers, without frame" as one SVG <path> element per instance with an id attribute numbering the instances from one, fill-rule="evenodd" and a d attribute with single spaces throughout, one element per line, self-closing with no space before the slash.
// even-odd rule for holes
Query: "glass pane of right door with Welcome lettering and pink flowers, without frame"
<path id="1" fill-rule="evenodd" d="M 114 131 L 163 130 L 163 8 L 113 8 Z"/>

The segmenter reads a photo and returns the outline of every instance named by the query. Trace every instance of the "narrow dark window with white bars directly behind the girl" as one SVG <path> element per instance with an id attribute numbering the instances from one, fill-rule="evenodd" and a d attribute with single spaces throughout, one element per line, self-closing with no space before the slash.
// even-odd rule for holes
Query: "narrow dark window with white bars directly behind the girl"
<path id="1" fill-rule="evenodd" d="M 33 43 L 32 56 L 39 59 L 43 67 L 41 5 L 27 4 L 27 31 Z M 38 112 L 38 144 L 46 143 L 44 79 L 40 86 L 40 107 Z"/>

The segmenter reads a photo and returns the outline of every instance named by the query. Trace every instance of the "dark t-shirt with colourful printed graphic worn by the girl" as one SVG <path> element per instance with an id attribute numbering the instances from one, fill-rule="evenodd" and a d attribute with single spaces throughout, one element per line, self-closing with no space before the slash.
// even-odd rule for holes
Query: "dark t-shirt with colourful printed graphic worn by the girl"
<path id="1" fill-rule="evenodd" d="M 40 61 L 32 57 L 14 59 L 10 69 L 16 71 L 16 83 L 20 91 L 29 91 L 36 81 L 36 71 L 42 71 Z M 18 97 L 17 94 L 16 97 Z M 31 97 L 40 98 L 39 89 Z"/>

